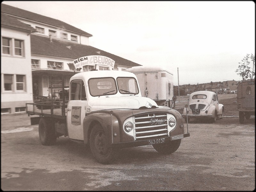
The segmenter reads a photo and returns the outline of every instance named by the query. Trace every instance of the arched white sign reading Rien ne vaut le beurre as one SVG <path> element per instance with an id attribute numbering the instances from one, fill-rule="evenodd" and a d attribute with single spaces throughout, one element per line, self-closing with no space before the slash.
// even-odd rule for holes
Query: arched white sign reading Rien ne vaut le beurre
<path id="1" fill-rule="evenodd" d="M 73 64 L 75 68 L 83 68 L 85 65 L 107 65 L 110 68 L 114 68 L 115 61 L 101 55 L 89 55 L 89 56 L 84 56 L 80 57 L 76 60 L 73 60 Z"/>

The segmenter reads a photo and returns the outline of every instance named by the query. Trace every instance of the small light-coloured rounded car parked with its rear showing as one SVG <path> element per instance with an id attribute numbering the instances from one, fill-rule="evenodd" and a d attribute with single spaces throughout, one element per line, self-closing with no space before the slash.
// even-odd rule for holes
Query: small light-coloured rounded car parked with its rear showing
<path id="1" fill-rule="evenodd" d="M 209 118 L 216 122 L 217 118 L 223 119 L 224 106 L 219 103 L 218 95 L 212 91 L 197 91 L 190 94 L 188 107 L 183 109 L 181 116 L 187 122 L 191 118 Z"/>

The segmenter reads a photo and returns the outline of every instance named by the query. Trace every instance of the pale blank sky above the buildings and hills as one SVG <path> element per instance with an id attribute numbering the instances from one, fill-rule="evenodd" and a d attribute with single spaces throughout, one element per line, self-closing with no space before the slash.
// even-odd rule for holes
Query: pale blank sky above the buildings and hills
<path id="1" fill-rule="evenodd" d="M 82 29 L 93 35 L 93 47 L 167 69 L 174 85 L 242 80 L 235 72 L 239 62 L 255 55 L 253 1 L 2 3 Z"/>

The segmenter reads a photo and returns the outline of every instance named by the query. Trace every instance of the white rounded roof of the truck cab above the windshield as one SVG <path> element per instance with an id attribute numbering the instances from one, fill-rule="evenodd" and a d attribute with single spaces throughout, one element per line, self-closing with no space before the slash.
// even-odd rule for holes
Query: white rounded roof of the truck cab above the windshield
<path id="1" fill-rule="evenodd" d="M 116 71 L 116 70 L 100 70 L 100 71 L 86 71 L 78 73 L 70 78 L 70 81 L 75 79 L 84 79 L 87 81 L 90 78 L 97 78 L 97 77 L 134 77 L 136 76 L 133 73 L 127 71 Z"/>

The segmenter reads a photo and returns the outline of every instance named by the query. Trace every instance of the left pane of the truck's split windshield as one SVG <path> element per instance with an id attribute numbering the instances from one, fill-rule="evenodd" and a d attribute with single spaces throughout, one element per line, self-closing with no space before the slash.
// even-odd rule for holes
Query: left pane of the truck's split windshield
<path id="1" fill-rule="evenodd" d="M 116 81 L 112 77 L 92 78 L 88 81 L 92 96 L 114 95 L 117 93 Z"/>

